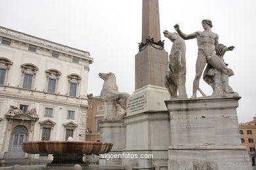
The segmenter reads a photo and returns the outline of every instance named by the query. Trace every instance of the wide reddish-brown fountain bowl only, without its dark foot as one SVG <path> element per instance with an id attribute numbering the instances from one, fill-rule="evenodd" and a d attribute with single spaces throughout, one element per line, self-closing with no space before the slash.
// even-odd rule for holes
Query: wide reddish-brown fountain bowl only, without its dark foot
<path id="1" fill-rule="evenodd" d="M 104 154 L 110 152 L 112 143 L 81 141 L 33 141 L 22 143 L 28 154 Z"/>

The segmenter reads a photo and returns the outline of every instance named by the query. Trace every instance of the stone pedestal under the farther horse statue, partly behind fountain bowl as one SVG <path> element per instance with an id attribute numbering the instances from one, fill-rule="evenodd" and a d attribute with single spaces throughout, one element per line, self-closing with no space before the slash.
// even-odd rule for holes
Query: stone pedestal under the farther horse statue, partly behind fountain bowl
<path id="1" fill-rule="evenodd" d="M 113 143 L 108 154 L 123 154 L 126 143 L 126 126 L 123 120 L 104 120 L 100 122 L 101 141 Z M 101 157 L 100 157 L 101 158 Z M 121 158 L 106 160 L 106 165 L 122 165 Z"/>

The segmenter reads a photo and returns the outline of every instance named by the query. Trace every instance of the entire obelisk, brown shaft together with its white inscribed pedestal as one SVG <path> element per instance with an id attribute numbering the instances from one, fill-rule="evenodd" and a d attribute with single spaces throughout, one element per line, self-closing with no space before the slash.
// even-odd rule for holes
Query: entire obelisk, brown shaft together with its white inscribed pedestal
<path id="1" fill-rule="evenodd" d="M 142 42 L 135 56 L 135 92 L 127 99 L 123 118 L 126 127 L 123 154 L 152 154 L 154 158 L 123 159 L 122 165 L 167 166 L 169 112 L 164 101 L 170 95 L 164 78 L 168 53 L 163 49 L 160 35 L 158 0 L 142 0 Z"/>

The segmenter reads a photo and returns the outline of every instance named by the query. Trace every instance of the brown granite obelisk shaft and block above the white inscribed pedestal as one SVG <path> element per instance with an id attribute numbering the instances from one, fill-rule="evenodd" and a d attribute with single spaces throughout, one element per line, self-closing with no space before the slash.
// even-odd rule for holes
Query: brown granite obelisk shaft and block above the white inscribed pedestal
<path id="1" fill-rule="evenodd" d="M 158 0 L 142 0 L 142 43 L 135 56 L 135 90 L 148 84 L 165 88 L 168 54 L 160 35 Z"/>

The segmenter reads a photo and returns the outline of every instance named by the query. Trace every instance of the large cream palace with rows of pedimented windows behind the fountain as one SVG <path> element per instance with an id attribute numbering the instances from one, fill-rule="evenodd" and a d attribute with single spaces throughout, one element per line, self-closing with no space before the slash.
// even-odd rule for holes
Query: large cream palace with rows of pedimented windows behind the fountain
<path id="1" fill-rule="evenodd" d="M 89 52 L 0 27 L 0 159 L 24 141 L 85 141 Z M 48 156 L 47 156 L 48 158 Z"/>

